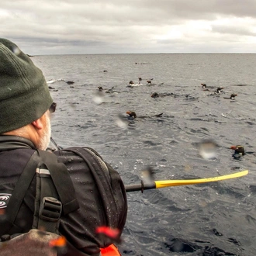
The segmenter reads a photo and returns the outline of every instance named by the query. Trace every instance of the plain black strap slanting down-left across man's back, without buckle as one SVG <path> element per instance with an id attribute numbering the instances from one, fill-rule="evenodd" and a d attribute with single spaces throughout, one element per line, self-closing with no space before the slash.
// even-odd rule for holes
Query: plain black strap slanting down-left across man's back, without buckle
<path id="1" fill-rule="evenodd" d="M 1 225 L 1 229 L 5 229 L 5 232 L 1 230 L 2 234 L 7 234 L 9 232 L 11 234 L 20 232 L 20 228 L 16 227 L 14 221 L 16 220 L 16 216 L 22 204 L 22 200 L 24 199 L 26 192 L 29 189 L 29 185 L 31 184 L 34 175 L 36 175 L 36 167 L 38 161 L 39 157 L 35 151 L 29 158 L 29 161 L 26 164 L 25 169 L 22 171 L 22 174 L 19 176 L 18 182 L 16 182 L 16 187 L 12 191 L 12 196 L 9 199 L 9 203 L 5 211 L 5 217 L 9 223 L 7 225 Z"/>

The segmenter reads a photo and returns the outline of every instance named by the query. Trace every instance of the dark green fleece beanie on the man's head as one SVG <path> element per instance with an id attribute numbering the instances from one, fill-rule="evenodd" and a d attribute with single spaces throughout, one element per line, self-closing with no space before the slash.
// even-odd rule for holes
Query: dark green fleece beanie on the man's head
<path id="1" fill-rule="evenodd" d="M 52 102 L 42 71 L 15 43 L 0 38 L 0 134 L 39 119 Z"/>

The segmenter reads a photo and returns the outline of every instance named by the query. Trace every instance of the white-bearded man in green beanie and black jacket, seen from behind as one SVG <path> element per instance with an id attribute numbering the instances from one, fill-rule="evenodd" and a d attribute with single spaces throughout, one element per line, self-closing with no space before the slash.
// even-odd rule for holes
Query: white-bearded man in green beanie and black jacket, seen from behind
<path id="1" fill-rule="evenodd" d="M 56 106 L 42 71 L 15 43 L 0 38 L 0 239 L 56 221 L 71 246 L 65 255 L 104 255 L 110 249 L 102 248 L 113 242 L 108 234 L 118 230 L 118 240 L 126 223 L 124 185 L 91 148 L 47 150 Z M 49 177 L 51 185 L 43 183 Z M 56 198 L 38 198 L 38 190 L 51 189 Z M 107 231 L 97 234 L 99 228 Z"/>

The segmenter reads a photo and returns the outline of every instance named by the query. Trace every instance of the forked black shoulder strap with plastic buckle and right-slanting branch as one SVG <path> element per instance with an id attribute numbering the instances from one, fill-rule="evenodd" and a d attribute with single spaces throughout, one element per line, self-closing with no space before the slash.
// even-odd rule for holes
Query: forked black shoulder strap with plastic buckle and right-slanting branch
<path id="1" fill-rule="evenodd" d="M 62 210 L 65 215 L 78 209 L 78 200 L 66 166 L 52 152 L 38 150 L 38 154 L 33 228 L 58 234 Z"/>

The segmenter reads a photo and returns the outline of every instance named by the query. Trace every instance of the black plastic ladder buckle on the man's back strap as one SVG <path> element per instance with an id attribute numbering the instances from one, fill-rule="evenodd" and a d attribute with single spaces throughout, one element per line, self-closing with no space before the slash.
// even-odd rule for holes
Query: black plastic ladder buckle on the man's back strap
<path id="1" fill-rule="evenodd" d="M 61 218 L 62 203 L 54 197 L 43 197 L 40 204 L 39 217 L 42 220 L 57 222 Z"/>

